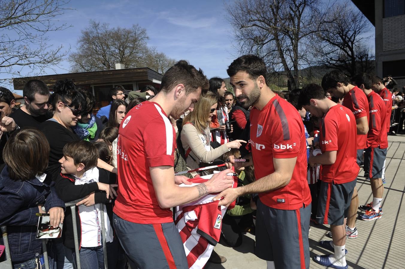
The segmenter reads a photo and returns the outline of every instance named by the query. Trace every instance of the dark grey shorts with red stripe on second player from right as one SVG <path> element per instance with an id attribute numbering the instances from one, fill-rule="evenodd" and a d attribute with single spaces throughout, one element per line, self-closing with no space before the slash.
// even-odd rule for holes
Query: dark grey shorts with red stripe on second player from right
<path id="1" fill-rule="evenodd" d="M 370 179 L 381 179 L 384 168 L 387 149 L 378 147 L 366 149 L 364 153 L 364 173 L 369 174 Z"/>

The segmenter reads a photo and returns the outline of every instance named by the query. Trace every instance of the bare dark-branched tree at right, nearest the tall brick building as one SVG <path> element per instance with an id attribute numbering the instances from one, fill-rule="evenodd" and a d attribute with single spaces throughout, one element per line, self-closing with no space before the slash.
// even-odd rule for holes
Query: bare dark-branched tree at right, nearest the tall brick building
<path id="1" fill-rule="evenodd" d="M 367 44 L 371 42 L 371 23 L 354 5 L 336 3 L 328 11 L 315 38 L 318 63 L 338 69 L 349 76 L 373 71 L 374 55 Z"/>

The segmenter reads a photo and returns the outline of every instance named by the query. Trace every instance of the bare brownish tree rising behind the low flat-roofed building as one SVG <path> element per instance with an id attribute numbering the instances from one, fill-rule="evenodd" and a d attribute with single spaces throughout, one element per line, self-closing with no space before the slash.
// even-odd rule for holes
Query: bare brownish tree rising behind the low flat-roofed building
<path id="1" fill-rule="evenodd" d="M 114 69 L 115 63 L 126 68 L 139 67 L 148 51 L 146 29 L 139 25 L 131 28 L 110 28 L 108 23 L 91 20 L 89 27 L 81 31 L 76 53 L 71 53 L 71 69 L 77 71 L 101 71 Z"/>

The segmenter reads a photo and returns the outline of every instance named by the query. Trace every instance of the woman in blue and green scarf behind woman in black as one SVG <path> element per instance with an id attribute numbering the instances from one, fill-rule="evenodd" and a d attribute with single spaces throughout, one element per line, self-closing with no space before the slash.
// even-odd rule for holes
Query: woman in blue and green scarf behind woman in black
<path id="1" fill-rule="evenodd" d="M 86 106 L 84 112 L 81 115 L 81 119 L 77 122 L 76 126 L 73 128 L 76 135 L 85 141 L 90 141 L 94 143 L 100 136 L 104 126 L 100 118 L 93 115 L 93 109 L 96 105 L 96 99 L 88 90 L 79 90 L 83 97 L 86 99 Z"/>

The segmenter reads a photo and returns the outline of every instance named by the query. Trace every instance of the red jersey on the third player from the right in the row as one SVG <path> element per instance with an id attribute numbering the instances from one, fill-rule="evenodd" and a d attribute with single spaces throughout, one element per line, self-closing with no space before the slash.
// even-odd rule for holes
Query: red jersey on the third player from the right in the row
<path id="1" fill-rule="evenodd" d="M 367 122 L 369 122 L 369 101 L 367 101 L 366 94 L 357 86 L 354 86 L 354 88 L 347 92 L 342 105 L 353 112 L 356 120 L 362 117 L 367 117 Z M 365 149 L 366 142 L 367 135 L 357 135 L 357 149 Z"/>

